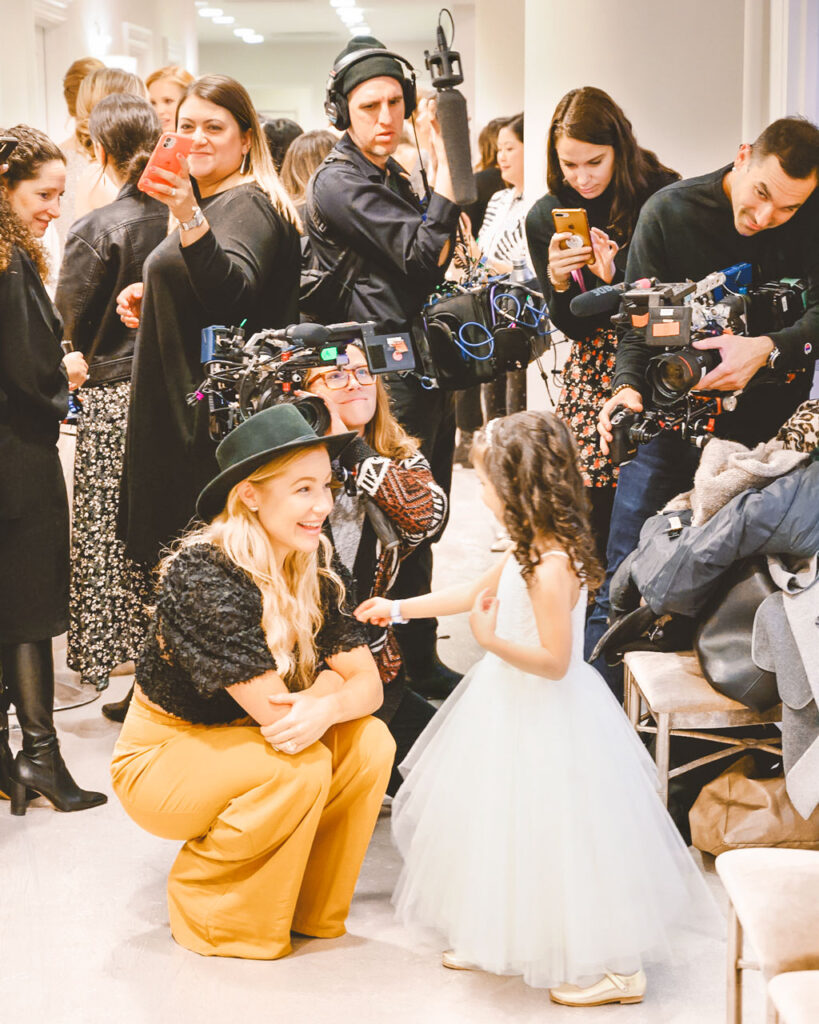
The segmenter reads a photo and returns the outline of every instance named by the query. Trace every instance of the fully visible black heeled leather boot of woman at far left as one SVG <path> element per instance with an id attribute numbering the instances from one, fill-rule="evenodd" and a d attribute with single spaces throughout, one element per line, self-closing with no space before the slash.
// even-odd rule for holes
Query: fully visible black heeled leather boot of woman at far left
<path id="1" fill-rule="evenodd" d="M 58 811 L 83 811 L 104 804 L 104 793 L 81 790 L 69 773 L 54 730 L 54 666 L 51 641 L 4 644 L 3 682 L 17 712 L 23 750 L 11 779 L 11 813 L 25 814 L 31 791 Z"/>

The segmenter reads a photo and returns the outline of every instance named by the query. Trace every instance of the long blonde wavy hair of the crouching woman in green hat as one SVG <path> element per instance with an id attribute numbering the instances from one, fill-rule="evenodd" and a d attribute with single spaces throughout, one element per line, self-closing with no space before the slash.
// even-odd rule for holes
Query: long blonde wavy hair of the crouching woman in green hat
<path id="1" fill-rule="evenodd" d="M 278 456 L 247 479 L 251 483 L 264 483 L 284 473 L 302 455 L 304 449 Z M 162 560 L 160 577 L 185 548 L 196 544 L 212 544 L 218 548 L 234 565 L 244 569 L 261 591 L 262 629 L 278 674 L 289 690 L 303 690 L 315 679 L 314 638 L 324 618 L 320 579 L 324 577 L 335 588 L 339 607 L 345 598 L 344 583 L 332 567 L 333 547 L 321 535 L 316 551 L 291 551 L 279 569 L 267 534 L 258 516 L 240 498 L 238 487 L 239 484 L 231 488 L 224 509 L 217 516 L 186 534 L 175 550 Z"/>

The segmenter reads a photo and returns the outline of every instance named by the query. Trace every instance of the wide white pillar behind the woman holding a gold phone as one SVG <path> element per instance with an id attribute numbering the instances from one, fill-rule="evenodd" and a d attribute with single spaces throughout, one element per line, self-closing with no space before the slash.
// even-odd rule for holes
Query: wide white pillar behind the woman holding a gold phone
<path id="1" fill-rule="evenodd" d="M 545 190 L 555 105 L 581 85 L 605 89 L 640 143 L 684 177 L 730 161 L 742 141 L 744 7 L 744 0 L 526 0 L 531 199 Z"/>

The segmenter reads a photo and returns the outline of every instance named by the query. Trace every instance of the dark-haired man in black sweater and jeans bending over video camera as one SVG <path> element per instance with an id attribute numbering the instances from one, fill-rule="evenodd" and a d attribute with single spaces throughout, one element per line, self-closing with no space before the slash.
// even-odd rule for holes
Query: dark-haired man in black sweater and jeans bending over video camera
<path id="1" fill-rule="evenodd" d="M 733 165 L 655 194 L 643 207 L 632 240 L 627 281 L 699 281 L 740 262 L 752 265 L 755 285 L 782 278 L 806 281 L 806 310 L 792 326 L 763 337 L 721 335 L 694 342 L 699 349 L 718 349 L 721 356 L 699 382 L 700 390 L 739 391 L 766 367 L 781 376 L 777 383 L 755 384 L 734 412 L 717 418 L 719 436 L 749 446 L 774 436 L 810 392 L 819 333 L 818 179 L 819 129 L 804 118 L 782 118 L 752 145 L 740 145 Z M 613 410 L 643 409 L 649 355 L 640 332 L 627 331 L 617 348 L 612 395 L 600 412 L 605 453 Z M 587 627 L 587 652 L 605 630 L 611 574 L 637 546 L 648 516 L 691 486 L 698 461 L 696 449 L 676 434 L 661 433 L 620 469 L 607 579 Z"/>

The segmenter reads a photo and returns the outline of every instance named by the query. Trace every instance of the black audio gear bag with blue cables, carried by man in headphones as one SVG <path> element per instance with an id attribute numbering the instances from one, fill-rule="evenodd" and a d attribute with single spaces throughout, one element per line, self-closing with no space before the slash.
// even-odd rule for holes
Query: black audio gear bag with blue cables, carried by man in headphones
<path id="1" fill-rule="evenodd" d="M 422 383 L 443 391 L 473 387 L 525 369 L 548 347 L 544 297 L 525 276 L 522 264 L 495 276 L 478 266 L 461 284 L 436 290 L 413 331 Z"/>

